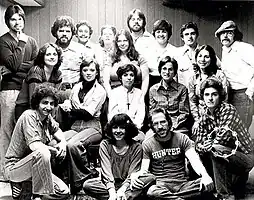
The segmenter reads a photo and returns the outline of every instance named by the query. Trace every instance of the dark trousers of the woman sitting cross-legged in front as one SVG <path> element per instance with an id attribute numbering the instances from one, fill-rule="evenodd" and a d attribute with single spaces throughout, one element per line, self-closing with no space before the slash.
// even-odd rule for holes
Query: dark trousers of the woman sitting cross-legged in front
<path id="1" fill-rule="evenodd" d="M 155 180 L 155 176 L 143 176 L 140 178 L 144 182 L 144 190 L 147 189 L 151 184 L 153 184 Z M 122 186 L 122 183 L 115 183 L 116 191 Z M 101 179 L 94 178 L 89 179 L 84 182 L 83 189 L 86 194 L 100 200 L 107 200 L 109 199 L 109 193 L 106 186 L 102 183 Z M 128 200 L 136 199 L 138 196 L 141 195 L 143 192 L 142 189 L 140 190 L 131 190 L 130 187 L 127 188 L 125 195 Z"/>

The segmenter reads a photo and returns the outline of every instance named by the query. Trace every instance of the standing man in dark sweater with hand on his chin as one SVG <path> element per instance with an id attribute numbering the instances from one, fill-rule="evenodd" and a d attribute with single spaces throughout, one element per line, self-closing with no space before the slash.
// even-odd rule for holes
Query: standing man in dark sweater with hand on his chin
<path id="1" fill-rule="evenodd" d="M 9 32 L 0 37 L 1 68 L 1 129 L 0 129 L 0 172 L 3 173 L 4 156 L 14 128 L 15 101 L 23 79 L 33 66 L 38 53 L 34 38 L 23 32 L 25 13 L 19 5 L 11 5 L 5 11 L 5 23 Z M 3 180 L 3 175 L 0 175 Z"/>

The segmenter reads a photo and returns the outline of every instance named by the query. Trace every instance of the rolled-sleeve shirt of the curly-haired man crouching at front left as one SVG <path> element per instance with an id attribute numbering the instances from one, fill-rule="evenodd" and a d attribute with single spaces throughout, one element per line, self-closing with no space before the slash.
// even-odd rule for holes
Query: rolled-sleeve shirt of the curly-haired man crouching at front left
<path id="1" fill-rule="evenodd" d="M 19 117 L 14 128 L 11 143 L 5 155 L 6 167 L 31 153 L 29 148 L 31 143 L 39 141 L 48 144 L 58 130 L 59 125 L 52 116 L 48 116 L 42 122 L 37 110 L 26 110 Z"/>

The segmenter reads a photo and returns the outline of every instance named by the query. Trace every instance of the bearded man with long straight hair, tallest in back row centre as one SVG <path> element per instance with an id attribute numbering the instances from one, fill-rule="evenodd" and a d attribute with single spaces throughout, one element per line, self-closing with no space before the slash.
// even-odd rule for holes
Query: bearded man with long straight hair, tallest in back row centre
<path id="1" fill-rule="evenodd" d="M 145 30 L 146 17 L 144 13 L 136 8 L 130 11 L 127 17 L 127 25 L 136 50 L 144 56 L 148 63 L 150 74 L 159 76 L 158 66 L 156 66 L 157 58 L 153 50 L 157 44 L 153 35 Z"/>

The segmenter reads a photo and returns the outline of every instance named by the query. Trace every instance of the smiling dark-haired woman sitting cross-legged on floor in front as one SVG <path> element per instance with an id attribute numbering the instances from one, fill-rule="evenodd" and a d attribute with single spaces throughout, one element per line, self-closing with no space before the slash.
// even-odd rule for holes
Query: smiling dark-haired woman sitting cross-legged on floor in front
<path id="1" fill-rule="evenodd" d="M 142 146 L 133 138 L 138 129 L 126 114 L 117 114 L 106 125 L 100 144 L 101 179 L 87 180 L 83 189 L 96 199 L 134 199 L 141 190 L 130 189 L 130 175 L 140 169 Z M 151 180 L 144 180 L 147 185 Z"/>

